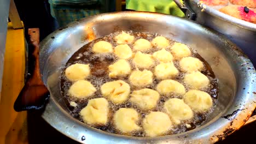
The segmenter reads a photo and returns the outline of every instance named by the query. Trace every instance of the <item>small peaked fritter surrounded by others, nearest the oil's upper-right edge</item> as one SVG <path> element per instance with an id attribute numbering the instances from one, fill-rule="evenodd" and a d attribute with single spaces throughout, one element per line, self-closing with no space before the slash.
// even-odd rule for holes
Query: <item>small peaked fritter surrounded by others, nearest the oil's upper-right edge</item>
<path id="1" fill-rule="evenodd" d="M 165 49 L 154 52 L 153 57 L 160 62 L 172 62 L 173 59 L 172 54 Z"/>

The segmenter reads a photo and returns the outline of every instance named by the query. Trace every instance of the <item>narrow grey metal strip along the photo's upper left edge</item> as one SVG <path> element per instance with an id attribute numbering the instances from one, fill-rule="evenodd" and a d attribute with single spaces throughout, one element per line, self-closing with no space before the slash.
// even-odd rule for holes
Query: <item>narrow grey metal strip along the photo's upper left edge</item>
<path id="1" fill-rule="evenodd" d="M 0 100 L 10 0 L 0 1 Z"/>

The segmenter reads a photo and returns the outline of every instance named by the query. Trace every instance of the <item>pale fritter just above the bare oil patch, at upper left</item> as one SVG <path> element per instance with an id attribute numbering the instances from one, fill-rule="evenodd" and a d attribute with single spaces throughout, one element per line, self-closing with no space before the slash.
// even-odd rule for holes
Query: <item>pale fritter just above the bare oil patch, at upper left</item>
<path id="1" fill-rule="evenodd" d="M 112 44 L 107 41 L 98 41 L 94 46 L 92 46 L 92 51 L 96 53 L 112 52 L 113 47 Z"/>

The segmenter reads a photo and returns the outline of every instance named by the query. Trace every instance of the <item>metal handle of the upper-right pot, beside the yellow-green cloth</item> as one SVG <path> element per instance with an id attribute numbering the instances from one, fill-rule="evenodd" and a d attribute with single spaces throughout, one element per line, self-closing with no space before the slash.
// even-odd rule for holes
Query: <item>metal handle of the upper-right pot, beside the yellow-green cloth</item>
<path id="1" fill-rule="evenodd" d="M 189 20 L 195 20 L 196 19 L 196 14 L 194 13 L 193 10 L 191 10 L 189 7 L 187 7 L 184 3 L 184 0 L 183 0 L 183 3 L 180 1 L 180 0 L 173 0 L 174 3 L 176 3 L 179 7 L 179 9 L 182 10 L 182 12 L 185 14 L 185 17 Z"/>

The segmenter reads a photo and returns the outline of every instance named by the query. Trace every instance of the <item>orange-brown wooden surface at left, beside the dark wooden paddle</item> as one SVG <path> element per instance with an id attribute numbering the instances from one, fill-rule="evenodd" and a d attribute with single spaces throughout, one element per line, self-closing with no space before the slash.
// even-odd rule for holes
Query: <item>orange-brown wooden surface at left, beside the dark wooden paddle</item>
<path id="1" fill-rule="evenodd" d="M 15 112 L 13 104 L 24 86 L 24 29 L 13 29 L 8 23 L 0 101 L 0 144 L 28 143 L 27 112 Z"/>

